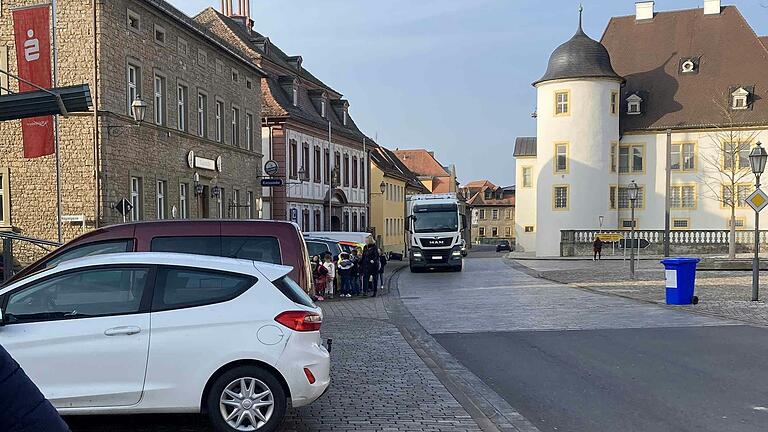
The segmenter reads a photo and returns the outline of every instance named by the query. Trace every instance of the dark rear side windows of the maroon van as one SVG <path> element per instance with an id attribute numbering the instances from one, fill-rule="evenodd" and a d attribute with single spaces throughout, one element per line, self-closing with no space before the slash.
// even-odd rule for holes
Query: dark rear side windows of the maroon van
<path id="1" fill-rule="evenodd" d="M 213 255 L 282 264 L 280 243 L 275 237 L 155 237 L 152 239 L 150 250 L 152 252 Z"/>

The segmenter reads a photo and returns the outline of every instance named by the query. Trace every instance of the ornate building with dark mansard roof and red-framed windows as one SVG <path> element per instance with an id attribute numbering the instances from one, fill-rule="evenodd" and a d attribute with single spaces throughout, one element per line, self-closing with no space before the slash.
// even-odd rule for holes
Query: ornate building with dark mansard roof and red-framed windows
<path id="1" fill-rule="evenodd" d="M 301 56 L 255 31 L 247 11 L 234 11 L 229 1 L 222 2 L 227 14 L 208 8 L 195 21 L 268 74 L 261 79 L 262 147 L 285 185 L 265 189 L 265 216 L 305 231 L 367 230 L 368 154 L 375 144 L 358 129 L 341 93 L 305 69 Z"/>

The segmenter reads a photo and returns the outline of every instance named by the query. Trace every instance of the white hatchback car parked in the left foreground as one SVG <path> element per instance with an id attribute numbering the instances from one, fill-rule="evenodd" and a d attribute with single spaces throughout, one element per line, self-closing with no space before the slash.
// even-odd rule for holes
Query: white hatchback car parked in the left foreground
<path id="1" fill-rule="evenodd" d="M 330 384 L 290 267 L 174 253 L 66 261 L 0 288 L 0 344 L 62 414 L 207 412 L 272 431 Z"/>

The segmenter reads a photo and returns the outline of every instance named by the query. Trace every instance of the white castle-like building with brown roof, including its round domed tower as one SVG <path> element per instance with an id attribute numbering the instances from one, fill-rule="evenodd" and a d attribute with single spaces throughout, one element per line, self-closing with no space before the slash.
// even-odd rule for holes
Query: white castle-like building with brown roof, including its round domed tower
<path id="1" fill-rule="evenodd" d="M 517 250 L 559 255 L 561 230 L 601 220 L 629 229 L 632 180 L 636 227 L 663 229 L 668 130 L 672 228 L 728 229 L 734 195 L 736 227 L 751 228 L 747 155 L 768 141 L 766 71 L 768 38 L 718 0 L 672 12 L 638 2 L 600 42 L 579 23 L 533 84 L 537 136 L 515 144 Z"/>

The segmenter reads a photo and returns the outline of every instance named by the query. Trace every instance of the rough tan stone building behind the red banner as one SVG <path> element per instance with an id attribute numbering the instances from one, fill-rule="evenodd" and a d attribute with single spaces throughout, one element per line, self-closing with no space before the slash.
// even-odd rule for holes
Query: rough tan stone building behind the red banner
<path id="1" fill-rule="evenodd" d="M 12 73 L 10 10 L 37 3 L 0 3 L 0 57 Z M 258 217 L 264 72 L 246 53 L 162 0 L 57 7 L 58 85 L 89 84 L 96 108 L 60 119 L 62 214 L 84 219 L 65 222 L 63 240 L 122 222 L 123 198 L 127 220 Z M 136 98 L 147 104 L 140 124 Z M 0 136 L 3 226 L 55 239 L 54 156 L 24 159 L 18 121 L 0 123 Z"/>

